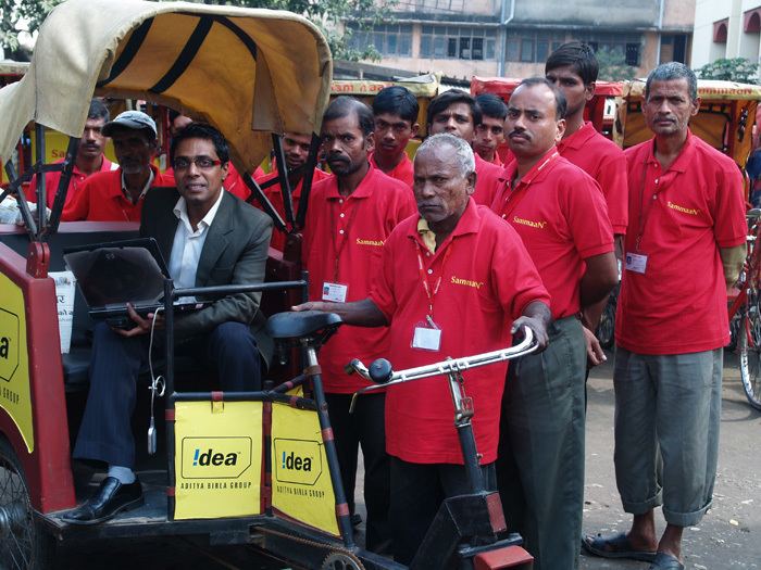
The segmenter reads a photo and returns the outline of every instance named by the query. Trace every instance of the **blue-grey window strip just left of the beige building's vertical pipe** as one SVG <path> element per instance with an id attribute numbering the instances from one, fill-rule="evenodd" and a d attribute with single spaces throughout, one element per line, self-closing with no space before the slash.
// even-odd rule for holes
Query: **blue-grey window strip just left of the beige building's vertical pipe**
<path id="1" fill-rule="evenodd" d="M 494 60 L 497 31 L 470 26 L 423 26 L 420 55 L 432 59 Z"/>

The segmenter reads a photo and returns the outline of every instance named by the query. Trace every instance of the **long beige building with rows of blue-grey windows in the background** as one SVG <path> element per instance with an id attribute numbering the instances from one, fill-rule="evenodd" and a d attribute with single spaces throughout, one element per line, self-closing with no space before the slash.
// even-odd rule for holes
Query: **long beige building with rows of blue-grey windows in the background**
<path id="1" fill-rule="evenodd" d="M 619 53 L 645 75 L 658 63 L 689 64 L 695 0 L 399 0 L 394 21 L 361 30 L 380 65 L 450 77 L 527 77 L 547 55 L 583 40 Z"/>

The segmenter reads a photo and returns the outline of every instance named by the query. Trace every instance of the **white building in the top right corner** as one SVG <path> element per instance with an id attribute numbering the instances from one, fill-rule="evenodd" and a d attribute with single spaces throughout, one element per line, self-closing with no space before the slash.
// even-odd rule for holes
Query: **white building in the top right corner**
<path id="1" fill-rule="evenodd" d="M 759 63 L 760 0 L 697 0 L 693 65 L 697 68 L 726 58 Z"/>

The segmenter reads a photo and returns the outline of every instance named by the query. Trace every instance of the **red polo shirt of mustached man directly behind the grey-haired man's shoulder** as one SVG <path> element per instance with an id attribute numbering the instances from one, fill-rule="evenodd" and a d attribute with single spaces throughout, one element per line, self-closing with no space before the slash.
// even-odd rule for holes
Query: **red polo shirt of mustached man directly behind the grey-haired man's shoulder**
<path id="1" fill-rule="evenodd" d="M 552 317 L 578 313 L 584 259 L 613 251 L 613 230 L 597 182 L 552 148 L 510 190 L 517 162 L 504 168 L 491 205 L 523 238 L 552 296 Z"/>

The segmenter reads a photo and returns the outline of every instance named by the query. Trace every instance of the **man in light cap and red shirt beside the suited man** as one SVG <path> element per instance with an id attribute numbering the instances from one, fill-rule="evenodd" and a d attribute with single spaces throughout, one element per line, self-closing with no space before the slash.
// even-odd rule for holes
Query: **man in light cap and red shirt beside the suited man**
<path id="1" fill-rule="evenodd" d="M 90 176 L 61 215 L 63 221 L 139 221 L 146 192 L 173 187 L 174 178 L 151 164 L 157 151 L 155 123 L 140 111 L 125 111 L 103 126 L 118 168 Z"/>

